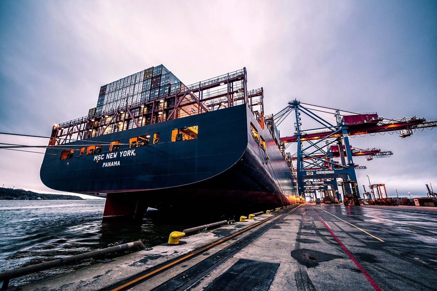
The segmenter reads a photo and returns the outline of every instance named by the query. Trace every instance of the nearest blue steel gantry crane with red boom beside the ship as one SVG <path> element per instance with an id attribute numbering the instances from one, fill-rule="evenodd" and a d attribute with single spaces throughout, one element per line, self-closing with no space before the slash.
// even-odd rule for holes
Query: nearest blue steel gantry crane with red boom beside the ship
<path id="1" fill-rule="evenodd" d="M 316 108 L 307 108 L 304 105 Z M 304 181 L 315 181 L 316 179 L 332 179 L 335 181 L 336 178 L 342 178 L 343 181 L 355 182 L 347 182 L 342 185 L 343 190 L 346 191 L 344 193 L 345 197 L 350 197 L 352 200 L 355 197 L 360 198 L 355 175 L 355 169 L 359 167 L 353 161 L 353 157 L 357 156 L 360 151 L 353 151 L 349 144 L 349 136 L 398 132 L 400 137 L 405 138 L 412 135 L 415 130 L 437 127 L 437 121 L 427 121 L 425 118 L 416 116 L 389 120 L 379 117 L 378 113 L 375 112 L 354 113 L 301 103 L 297 99 L 289 102 L 287 107 L 271 116 L 271 118 L 279 125 L 293 111 L 296 120 L 295 134 L 290 137 L 281 137 L 280 140 L 284 143 L 284 147 L 293 142 L 297 143 L 295 160 L 297 161 L 296 177 L 299 193 L 303 193 Z M 336 122 L 322 118 L 316 112 L 332 114 Z M 315 120 L 320 124 L 320 127 L 303 130 L 301 113 Z M 330 149 L 331 146 L 344 149 L 343 151 L 338 150 L 340 162 L 333 161 L 334 153 Z M 392 152 L 389 151 L 371 151 L 369 154 L 363 155 L 371 160 L 373 157 L 385 157 L 391 154 Z"/>

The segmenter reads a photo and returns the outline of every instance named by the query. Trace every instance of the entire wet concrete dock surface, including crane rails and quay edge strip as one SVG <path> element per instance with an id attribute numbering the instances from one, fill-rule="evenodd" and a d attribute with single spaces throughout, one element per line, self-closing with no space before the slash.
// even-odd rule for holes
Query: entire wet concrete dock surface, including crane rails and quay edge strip
<path id="1" fill-rule="evenodd" d="M 435 210 L 305 204 L 276 213 L 279 214 L 257 217 L 249 223 L 254 226 L 247 232 L 144 280 L 135 281 L 126 273 L 121 283 L 132 284 L 125 284 L 124 288 L 114 288 L 115 285 L 111 284 L 103 289 L 103 284 L 101 288 L 94 288 L 91 282 L 83 281 L 84 274 L 90 278 L 101 276 L 101 283 L 116 280 L 115 273 L 112 276 L 103 274 L 101 265 L 83 269 L 82 275 L 81 271 L 76 271 L 55 277 L 45 286 L 53 286 L 57 281 L 65 284 L 73 276 L 76 283 L 68 284 L 72 290 L 77 290 L 77 282 L 83 282 L 87 283 L 83 290 L 108 291 L 437 291 Z M 254 224 L 257 221 L 265 222 Z M 236 223 L 195 234 L 185 239 L 187 244 L 173 246 L 173 253 L 179 252 L 176 251 L 179 248 L 194 248 L 211 243 L 215 236 L 227 235 L 218 234 L 220 231 L 235 233 L 246 226 L 248 224 Z M 164 259 L 168 253 L 161 252 L 160 248 L 162 246 L 154 251 Z M 133 257 L 144 261 L 145 265 L 156 264 L 150 255 L 138 253 L 118 258 L 108 265 L 112 264 L 114 271 L 121 270 Z M 163 261 L 162 264 L 167 263 Z M 129 270 L 133 273 L 136 272 L 134 269 Z M 102 275 L 96 275 L 97 272 Z"/>

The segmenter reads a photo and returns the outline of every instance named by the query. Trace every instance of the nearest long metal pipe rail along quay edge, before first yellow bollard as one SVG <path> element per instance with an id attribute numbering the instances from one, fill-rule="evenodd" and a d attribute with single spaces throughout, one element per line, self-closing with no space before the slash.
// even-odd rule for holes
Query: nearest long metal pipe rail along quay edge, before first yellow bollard
<path id="1" fill-rule="evenodd" d="M 93 250 L 93 251 L 87 252 L 87 253 L 80 253 L 78 255 L 74 255 L 74 256 L 70 256 L 70 257 L 59 258 L 56 260 L 51 260 L 51 261 L 39 263 L 36 265 L 31 265 L 31 266 L 27 266 L 27 267 L 17 268 L 14 270 L 4 271 L 4 272 L 0 273 L 0 282 L 3 282 L 1 290 L 7 289 L 10 279 L 25 276 L 28 274 L 33 274 L 33 273 L 36 273 L 36 272 L 39 272 L 42 270 L 47 270 L 47 269 L 51 269 L 54 267 L 59 267 L 59 266 L 65 265 L 65 264 L 76 262 L 78 260 L 85 260 L 85 259 L 89 259 L 89 258 L 99 258 L 99 260 L 97 260 L 97 262 L 107 263 L 107 262 L 110 262 L 111 259 L 107 259 L 106 254 L 114 253 L 114 252 L 117 252 L 120 250 L 130 249 L 130 248 L 135 247 L 135 246 L 138 246 L 142 250 L 150 250 L 150 249 L 147 249 L 146 246 L 144 246 L 144 244 L 142 243 L 141 240 L 137 240 L 137 241 L 130 242 L 130 243 L 119 244 L 117 246 L 110 246 L 110 247 L 100 249 L 100 250 Z"/>

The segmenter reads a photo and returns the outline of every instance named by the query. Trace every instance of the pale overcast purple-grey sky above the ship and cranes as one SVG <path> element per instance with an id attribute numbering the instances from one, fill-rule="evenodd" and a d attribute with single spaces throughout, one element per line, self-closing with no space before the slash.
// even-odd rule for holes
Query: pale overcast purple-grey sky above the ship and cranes
<path id="1" fill-rule="evenodd" d="M 264 87 L 266 113 L 297 98 L 437 120 L 436 15 L 436 1 L 2 0 L 0 131 L 48 136 L 54 123 L 87 115 L 101 85 L 161 63 L 185 84 L 246 67 L 248 86 Z M 395 187 L 399 196 L 437 189 L 436 141 L 437 129 L 351 139 L 394 152 L 355 159 L 368 167 L 358 184 L 370 175 L 392 196 Z M 0 186 L 53 192 L 39 178 L 42 157 L 0 150 Z"/>

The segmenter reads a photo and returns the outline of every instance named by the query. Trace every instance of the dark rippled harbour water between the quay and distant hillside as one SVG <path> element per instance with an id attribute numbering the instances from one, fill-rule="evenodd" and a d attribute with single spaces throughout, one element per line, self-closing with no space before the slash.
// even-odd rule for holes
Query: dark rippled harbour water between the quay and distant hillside
<path id="1" fill-rule="evenodd" d="M 155 246 L 164 243 L 170 231 L 192 226 L 166 222 L 157 211 L 148 211 L 139 223 L 102 223 L 104 202 L 0 200 L 0 271 L 135 240 Z M 94 259 L 20 277 L 11 284 L 28 284 L 90 264 Z"/>

